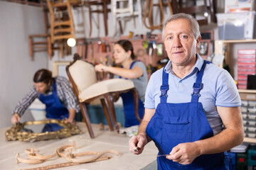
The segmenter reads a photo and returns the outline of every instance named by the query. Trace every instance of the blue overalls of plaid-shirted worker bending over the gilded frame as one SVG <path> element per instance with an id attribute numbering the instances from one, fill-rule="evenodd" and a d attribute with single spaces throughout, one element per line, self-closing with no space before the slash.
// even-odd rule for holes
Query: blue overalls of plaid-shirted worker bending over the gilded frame
<path id="1" fill-rule="evenodd" d="M 53 80 L 53 93 L 47 96 L 40 94 L 39 100 L 46 104 L 46 118 L 63 119 L 68 118 L 68 109 L 63 106 L 57 95 L 56 84 Z M 45 131 L 55 131 L 63 128 L 55 123 L 48 123 L 44 128 Z"/>

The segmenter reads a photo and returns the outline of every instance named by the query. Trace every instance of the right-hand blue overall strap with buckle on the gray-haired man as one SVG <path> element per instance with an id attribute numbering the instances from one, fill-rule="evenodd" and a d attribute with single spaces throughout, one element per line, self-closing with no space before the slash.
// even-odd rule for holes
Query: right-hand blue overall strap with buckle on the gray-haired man
<path id="1" fill-rule="evenodd" d="M 193 84 L 193 94 L 191 94 L 192 96 L 191 102 L 198 102 L 198 98 L 201 96 L 199 92 L 201 91 L 201 89 L 203 89 L 202 77 L 203 77 L 203 71 L 206 68 L 206 64 L 210 64 L 210 62 L 204 60 L 203 66 L 197 74 L 196 83 Z"/>

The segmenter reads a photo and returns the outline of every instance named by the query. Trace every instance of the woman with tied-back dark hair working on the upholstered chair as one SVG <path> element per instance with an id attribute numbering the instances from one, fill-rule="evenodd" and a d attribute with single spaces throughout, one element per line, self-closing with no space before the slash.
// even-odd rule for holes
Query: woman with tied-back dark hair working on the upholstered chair
<path id="1" fill-rule="evenodd" d="M 130 79 L 139 92 L 139 116 L 144 115 L 144 96 L 147 85 L 146 66 L 143 62 L 136 61 L 132 42 L 129 40 L 119 40 L 114 43 L 113 57 L 116 64 L 121 67 L 110 67 L 104 64 L 97 64 L 97 72 L 110 72 L 115 74 L 114 78 Z M 139 121 L 134 113 L 134 99 L 131 92 L 121 94 L 124 105 L 125 127 L 139 125 Z"/>

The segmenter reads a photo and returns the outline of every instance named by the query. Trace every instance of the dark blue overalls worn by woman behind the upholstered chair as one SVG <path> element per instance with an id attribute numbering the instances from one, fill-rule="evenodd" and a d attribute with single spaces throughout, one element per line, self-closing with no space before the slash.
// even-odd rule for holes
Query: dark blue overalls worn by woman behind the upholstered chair
<path id="1" fill-rule="evenodd" d="M 129 69 L 132 69 L 132 66 L 135 62 L 132 62 Z M 119 77 L 122 78 L 122 77 Z M 139 121 L 137 120 L 134 112 L 134 98 L 132 92 L 127 92 L 120 94 L 122 97 L 122 102 L 124 105 L 124 118 L 125 118 L 125 127 L 130 127 L 133 125 L 139 125 Z M 144 104 L 139 99 L 139 117 L 143 118 L 144 115 Z"/>

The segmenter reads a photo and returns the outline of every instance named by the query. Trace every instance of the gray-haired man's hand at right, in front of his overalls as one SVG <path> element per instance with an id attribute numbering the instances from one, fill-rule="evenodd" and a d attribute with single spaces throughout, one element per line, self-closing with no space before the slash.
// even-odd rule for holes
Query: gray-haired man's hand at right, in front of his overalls
<path id="1" fill-rule="evenodd" d="M 200 149 L 195 142 L 181 143 L 174 147 L 166 159 L 172 159 L 179 164 L 191 164 L 200 156 Z"/>

